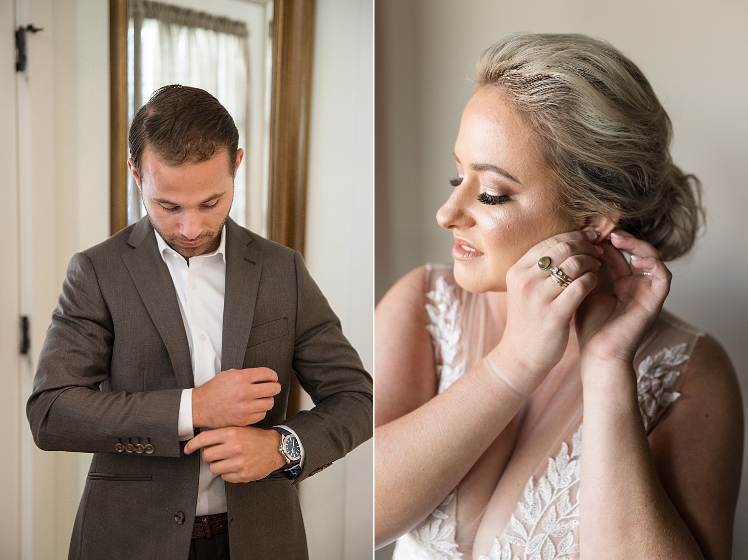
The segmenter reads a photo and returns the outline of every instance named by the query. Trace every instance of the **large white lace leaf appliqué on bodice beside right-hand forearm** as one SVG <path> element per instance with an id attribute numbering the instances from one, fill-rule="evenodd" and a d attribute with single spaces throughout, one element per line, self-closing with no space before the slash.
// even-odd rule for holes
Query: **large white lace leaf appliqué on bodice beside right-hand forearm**
<path id="1" fill-rule="evenodd" d="M 518 503 L 518 514 L 512 514 L 511 530 L 505 532 L 505 543 L 494 539 L 489 556 L 479 560 L 571 560 L 579 545 L 574 543 L 574 529 L 579 526 L 579 481 L 582 452 L 582 426 L 571 439 L 571 455 L 566 443 L 556 458 L 548 458 L 548 470 L 537 484 L 533 477 L 524 487 L 524 501 Z M 574 502 L 571 490 L 576 486 Z M 561 539 L 557 541 L 556 539 Z M 522 556 L 513 556 L 513 547 L 524 548 Z"/>

